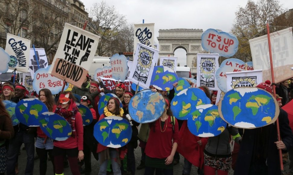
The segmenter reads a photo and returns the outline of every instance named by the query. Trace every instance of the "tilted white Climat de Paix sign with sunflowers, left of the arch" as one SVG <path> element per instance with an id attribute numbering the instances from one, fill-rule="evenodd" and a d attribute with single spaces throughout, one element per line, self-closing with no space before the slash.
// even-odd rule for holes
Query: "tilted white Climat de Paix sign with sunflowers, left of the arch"
<path id="1" fill-rule="evenodd" d="M 128 80 L 143 87 L 149 88 L 153 69 L 159 58 L 159 51 L 137 43 L 133 64 L 130 68 Z"/>

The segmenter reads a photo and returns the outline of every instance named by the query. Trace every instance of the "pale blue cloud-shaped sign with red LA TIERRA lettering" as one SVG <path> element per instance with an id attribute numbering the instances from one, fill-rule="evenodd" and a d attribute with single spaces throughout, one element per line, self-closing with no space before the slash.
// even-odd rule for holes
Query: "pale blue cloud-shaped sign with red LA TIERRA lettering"
<path id="1" fill-rule="evenodd" d="M 247 66 L 247 70 L 253 70 L 253 67 Z M 245 71 L 245 62 L 240 59 L 230 58 L 222 62 L 217 69 L 215 75 L 217 79 L 218 88 L 223 92 L 227 92 L 227 76 L 226 72 L 240 72 Z"/>

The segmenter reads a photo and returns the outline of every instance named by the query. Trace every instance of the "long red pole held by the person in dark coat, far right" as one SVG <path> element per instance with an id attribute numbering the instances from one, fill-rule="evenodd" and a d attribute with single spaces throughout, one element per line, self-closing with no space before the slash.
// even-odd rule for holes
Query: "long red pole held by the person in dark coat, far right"
<path id="1" fill-rule="evenodd" d="M 270 39 L 270 31 L 269 31 L 269 23 L 266 24 L 266 29 L 268 32 L 268 43 L 269 43 L 269 55 L 270 55 L 270 65 L 271 65 L 271 74 L 272 74 L 272 84 L 273 84 L 273 92 L 274 97 L 276 98 L 276 86 L 275 86 L 275 76 L 274 76 L 274 67 L 273 67 L 273 60 L 272 60 L 272 49 L 271 49 L 271 39 Z M 281 141 L 280 137 L 280 127 L 279 127 L 279 118 L 276 120 L 277 122 L 277 132 L 278 132 L 278 141 Z M 283 159 L 282 159 L 282 150 L 279 149 L 279 158 L 280 158 L 280 166 L 281 170 L 284 170 L 283 167 Z"/>

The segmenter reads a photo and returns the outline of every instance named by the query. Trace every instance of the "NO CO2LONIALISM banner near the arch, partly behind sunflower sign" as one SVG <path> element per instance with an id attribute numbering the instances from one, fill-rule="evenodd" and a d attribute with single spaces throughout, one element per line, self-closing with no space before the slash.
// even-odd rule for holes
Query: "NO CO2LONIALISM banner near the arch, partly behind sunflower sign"
<path id="1" fill-rule="evenodd" d="M 154 31 L 155 23 L 134 24 L 133 53 L 136 52 L 137 43 L 141 43 L 149 47 L 154 47 Z"/>

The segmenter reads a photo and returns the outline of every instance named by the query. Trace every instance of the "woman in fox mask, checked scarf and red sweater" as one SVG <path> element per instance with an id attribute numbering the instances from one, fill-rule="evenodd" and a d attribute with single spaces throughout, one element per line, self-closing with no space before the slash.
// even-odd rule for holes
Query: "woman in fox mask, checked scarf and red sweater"
<path id="1" fill-rule="evenodd" d="M 65 141 L 54 142 L 53 156 L 56 175 L 63 175 L 63 160 L 68 157 L 71 173 L 79 175 L 78 160 L 83 154 L 83 126 L 82 117 L 78 112 L 74 96 L 71 92 L 61 92 L 55 113 L 64 117 L 72 129 L 71 136 Z"/>

